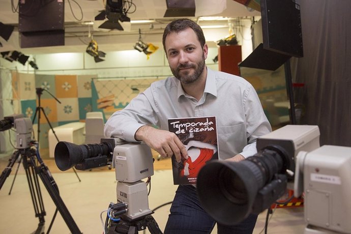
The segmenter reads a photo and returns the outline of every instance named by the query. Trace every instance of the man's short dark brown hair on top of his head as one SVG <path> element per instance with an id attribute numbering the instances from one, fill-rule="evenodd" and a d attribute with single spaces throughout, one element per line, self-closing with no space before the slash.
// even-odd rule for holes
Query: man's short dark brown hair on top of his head
<path id="1" fill-rule="evenodd" d="M 162 44 L 163 44 L 164 51 L 166 52 L 165 41 L 166 41 L 166 37 L 168 34 L 170 34 L 172 32 L 179 33 L 179 32 L 186 30 L 189 27 L 195 32 L 197 39 L 200 42 L 201 47 L 203 47 L 204 44 L 206 43 L 206 39 L 203 36 L 203 32 L 202 32 L 200 25 L 198 25 L 195 21 L 193 21 L 191 19 L 176 19 L 176 20 L 168 23 L 166 28 L 164 29 L 163 38 L 162 38 Z M 166 52 L 166 54 L 167 54 L 167 52 Z"/>

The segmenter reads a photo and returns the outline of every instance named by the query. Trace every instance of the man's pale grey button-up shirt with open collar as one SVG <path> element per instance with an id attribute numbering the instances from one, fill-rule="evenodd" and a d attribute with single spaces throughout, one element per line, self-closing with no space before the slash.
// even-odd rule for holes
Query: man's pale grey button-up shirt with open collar
<path id="1" fill-rule="evenodd" d="M 244 78 L 207 68 L 202 98 L 184 93 L 176 77 L 156 81 L 123 110 L 114 112 L 105 124 L 106 137 L 135 142 L 143 125 L 168 130 L 168 119 L 216 116 L 218 155 L 254 155 L 256 139 L 272 131 L 253 86 Z"/>

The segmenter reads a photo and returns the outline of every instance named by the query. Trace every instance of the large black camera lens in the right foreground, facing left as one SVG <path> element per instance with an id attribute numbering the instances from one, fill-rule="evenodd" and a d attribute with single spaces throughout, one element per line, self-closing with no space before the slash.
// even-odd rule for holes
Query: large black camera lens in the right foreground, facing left
<path id="1" fill-rule="evenodd" d="M 286 161 L 287 155 L 277 147 L 267 147 L 241 162 L 210 161 L 201 168 L 197 177 L 203 209 L 219 223 L 233 225 L 241 222 L 253 210 L 260 209 L 254 209 L 258 192 L 272 182 L 276 174 L 284 173 Z"/>

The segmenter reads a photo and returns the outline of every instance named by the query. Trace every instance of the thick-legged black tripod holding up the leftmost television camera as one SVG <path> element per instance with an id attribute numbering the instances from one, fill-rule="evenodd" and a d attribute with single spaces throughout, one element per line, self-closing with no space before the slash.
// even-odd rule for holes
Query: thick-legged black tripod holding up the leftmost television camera
<path id="1" fill-rule="evenodd" d="M 9 159 L 9 163 L 7 167 L 4 169 L 4 171 L 0 176 L 0 190 L 3 187 L 6 178 L 10 175 L 13 165 L 19 159 L 19 157 L 21 157 L 20 161 L 22 161 L 23 167 L 25 169 L 25 174 L 26 174 L 28 186 L 31 192 L 34 210 L 35 210 L 35 217 L 39 218 L 38 228 L 34 233 L 35 234 L 44 233 L 44 224 L 45 224 L 44 216 L 46 215 L 43 198 L 41 194 L 41 189 L 39 186 L 38 176 L 42 180 L 45 188 L 47 189 L 48 193 L 50 194 L 56 206 L 56 211 L 50 223 L 48 232 L 51 229 L 51 226 L 53 224 L 54 218 L 58 210 L 60 211 L 60 214 L 62 215 L 71 233 L 73 234 L 81 233 L 78 226 L 74 222 L 71 214 L 67 210 L 67 207 L 58 192 L 58 187 L 56 185 L 56 182 L 52 178 L 48 167 L 44 164 L 44 162 L 40 158 L 36 148 L 28 147 L 26 149 L 18 149 L 13 153 L 13 155 Z"/>

